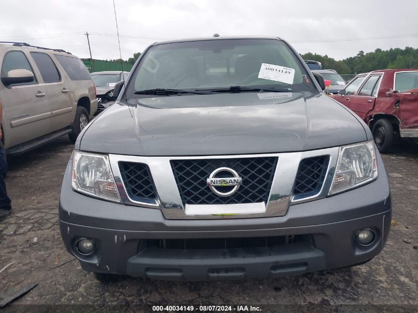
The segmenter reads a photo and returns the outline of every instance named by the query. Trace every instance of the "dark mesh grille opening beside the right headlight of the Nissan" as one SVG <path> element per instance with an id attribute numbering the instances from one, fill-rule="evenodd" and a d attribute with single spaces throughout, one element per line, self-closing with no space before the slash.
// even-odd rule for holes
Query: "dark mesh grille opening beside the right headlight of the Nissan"
<path id="1" fill-rule="evenodd" d="M 324 183 L 329 155 L 306 158 L 300 161 L 293 195 L 305 198 L 317 194 Z"/>

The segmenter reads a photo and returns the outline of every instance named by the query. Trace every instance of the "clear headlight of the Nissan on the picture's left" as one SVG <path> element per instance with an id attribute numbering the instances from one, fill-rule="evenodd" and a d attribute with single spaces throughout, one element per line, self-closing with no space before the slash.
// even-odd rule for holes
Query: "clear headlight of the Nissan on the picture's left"
<path id="1" fill-rule="evenodd" d="M 106 155 L 74 151 L 72 186 L 98 198 L 120 202 Z"/>

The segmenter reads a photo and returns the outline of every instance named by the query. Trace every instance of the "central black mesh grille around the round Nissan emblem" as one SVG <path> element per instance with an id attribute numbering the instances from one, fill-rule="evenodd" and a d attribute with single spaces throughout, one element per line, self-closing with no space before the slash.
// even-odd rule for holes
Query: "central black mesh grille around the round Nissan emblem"
<path id="1" fill-rule="evenodd" d="M 171 161 L 183 204 L 267 202 L 276 165 L 277 157 Z M 242 185 L 228 197 L 214 194 L 206 185 L 206 179 L 220 167 L 231 168 L 242 178 Z M 217 188 L 220 191 L 228 191 L 221 188 L 231 187 Z"/>

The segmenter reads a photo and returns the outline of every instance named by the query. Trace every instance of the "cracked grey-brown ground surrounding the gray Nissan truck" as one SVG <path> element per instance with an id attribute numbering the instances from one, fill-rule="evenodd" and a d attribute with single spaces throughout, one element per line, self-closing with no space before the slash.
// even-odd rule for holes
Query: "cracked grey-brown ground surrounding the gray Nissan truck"
<path id="1" fill-rule="evenodd" d="M 393 225 L 383 252 L 365 265 L 280 279 L 126 278 L 108 285 L 83 271 L 61 242 L 58 197 L 72 149 L 63 137 L 9 159 L 7 188 L 14 212 L 0 222 L 0 268 L 15 263 L 0 273 L 0 299 L 39 282 L 14 304 L 409 304 L 418 311 L 418 146 L 402 144 L 383 155 Z"/>

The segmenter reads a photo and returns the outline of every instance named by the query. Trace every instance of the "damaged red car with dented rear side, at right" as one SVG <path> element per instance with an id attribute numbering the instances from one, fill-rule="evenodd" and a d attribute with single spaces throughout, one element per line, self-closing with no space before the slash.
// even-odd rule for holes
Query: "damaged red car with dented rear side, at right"
<path id="1" fill-rule="evenodd" d="M 369 125 L 381 153 L 399 137 L 418 142 L 418 69 L 359 74 L 339 94 L 330 96 Z"/>

